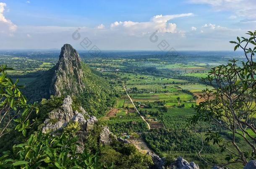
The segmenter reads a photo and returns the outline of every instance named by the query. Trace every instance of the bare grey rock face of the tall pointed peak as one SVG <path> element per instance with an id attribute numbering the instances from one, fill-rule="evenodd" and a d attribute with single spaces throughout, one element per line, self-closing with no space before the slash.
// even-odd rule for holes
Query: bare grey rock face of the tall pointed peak
<path id="1" fill-rule="evenodd" d="M 55 66 L 50 94 L 54 96 L 75 95 L 84 88 L 81 58 L 69 44 L 61 48 L 60 58 Z"/>

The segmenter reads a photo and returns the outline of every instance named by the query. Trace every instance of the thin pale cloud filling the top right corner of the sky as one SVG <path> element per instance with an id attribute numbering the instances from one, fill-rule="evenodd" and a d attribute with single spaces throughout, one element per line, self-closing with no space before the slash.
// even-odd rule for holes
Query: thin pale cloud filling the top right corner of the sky
<path id="1" fill-rule="evenodd" d="M 256 18 L 255 0 L 189 0 L 189 2 L 209 4 L 215 10 L 227 10 L 238 16 Z"/>

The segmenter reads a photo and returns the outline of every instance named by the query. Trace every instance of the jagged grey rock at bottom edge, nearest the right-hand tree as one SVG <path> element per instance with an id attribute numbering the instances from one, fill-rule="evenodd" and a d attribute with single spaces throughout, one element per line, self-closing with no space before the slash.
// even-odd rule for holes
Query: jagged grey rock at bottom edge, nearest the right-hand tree
<path id="1" fill-rule="evenodd" d="M 174 163 L 170 164 L 169 168 L 170 169 L 199 169 L 199 166 L 194 162 L 189 163 L 187 160 L 179 156 Z"/>

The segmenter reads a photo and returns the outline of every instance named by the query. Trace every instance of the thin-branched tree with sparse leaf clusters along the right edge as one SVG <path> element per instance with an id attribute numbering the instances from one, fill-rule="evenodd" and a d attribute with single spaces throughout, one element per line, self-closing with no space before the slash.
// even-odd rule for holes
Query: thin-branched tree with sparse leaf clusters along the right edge
<path id="1" fill-rule="evenodd" d="M 256 62 L 253 61 L 256 52 L 256 31 L 247 34 L 250 35 L 249 38 L 237 37 L 238 42 L 230 41 L 235 44 L 234 50 L 243 50 L 246 61 L 238 66 L 238 61 L 233 59 L 227 65 L 211 69 L 203 81 L 213 89 L 206 88 L 203 91 L 205 101 L 196 106 L 196 115 L 189 119 L 189 124 L 193 127 L 200 126 L 200 121 L 206 121 L 231 132 L 231 141 L 223 139 L 218 132 L 209 130 L 205 134 L 206 141 L 213 141 L 213 144 L 218 144 L 222 151 L 229 152 L 227 164 L 240 162 L 246 165 L 248 160 L 256 157 Z M 236 142 L 238 136 L 246 141 L 250 150 L 241 150 Z M 230 142 L 234 150 L 227 148 Z"/>

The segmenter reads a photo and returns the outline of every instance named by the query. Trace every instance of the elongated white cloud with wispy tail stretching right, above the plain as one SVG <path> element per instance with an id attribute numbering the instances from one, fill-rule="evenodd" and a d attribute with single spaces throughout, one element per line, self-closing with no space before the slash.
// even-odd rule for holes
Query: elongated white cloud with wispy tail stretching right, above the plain
<path id="1" fill-rule="evenodd" d="M 158 31 L 159 33 L 177 33 L 177 25 L 175 23 L 168 23 L 174 18 L 181 18 L 193 16 L 193 13 L 183 13 L 177 15 L 156 15 L 150 19 L 149 22 L 133 22 L 129 21 L 116 21 L 111 23 L 110 28 L 112 30 L 124 29 L 130 35 L 144 35 L 146 33 L 152 33 Z"/>

